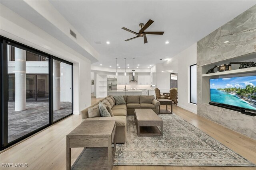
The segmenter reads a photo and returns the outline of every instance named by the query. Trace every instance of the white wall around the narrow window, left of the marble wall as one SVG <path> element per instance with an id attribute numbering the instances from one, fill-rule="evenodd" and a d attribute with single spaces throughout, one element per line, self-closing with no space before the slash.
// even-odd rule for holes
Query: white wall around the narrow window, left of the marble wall
<path id="1" fill-rule="evenodd" d="M 171 60 L 156 64 L 156 85 L 160 91 L 170 90 L 170 73 L 178 73 L 178 106 L 196 113 L 196 105 L 190 103 L 190 65 L 196 64 L 196 43 Z M 162 72 L 173 70 L 173 72 Z"/>

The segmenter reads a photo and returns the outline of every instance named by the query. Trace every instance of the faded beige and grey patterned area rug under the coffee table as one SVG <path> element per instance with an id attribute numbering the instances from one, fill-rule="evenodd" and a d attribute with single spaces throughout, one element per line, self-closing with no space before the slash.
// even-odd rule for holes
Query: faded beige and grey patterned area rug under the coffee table
<path id="1" fill-rule="evenodd" d="M 256 166 L 177 115 L 159 115 L 163 137 L 138 137 L 127 116 L 127 141 L 116 146 L 114 165 Z"/>

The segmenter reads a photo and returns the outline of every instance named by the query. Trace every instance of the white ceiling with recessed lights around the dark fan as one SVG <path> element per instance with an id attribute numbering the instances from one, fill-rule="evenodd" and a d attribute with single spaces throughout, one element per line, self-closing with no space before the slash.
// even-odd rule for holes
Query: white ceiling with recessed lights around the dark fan
<path id="1" fill-rule="evenodd" d="M 232 20 L 255 1 L 50 1 L 53 6 L 100 53 L 93 65 L 115 68 L 116 60 L 147 68 L 171 58 L 196 43 L 218 27 Z M 146 31 L 164 31 L 164 35 L 147 35 L 124 41 L 136 35 L 122 27 L 139 31 L 139 23 L 154 23 Z M 94 41 L 100 41 L 96 44 Z M 110 44 L 106 44 L 110 41 Z M 165 44 L 170 41 L 169 44 Z M 131 67 L 130 67 L 131 68 Z M 136 68 L 136 67 L 135 67 Z"/>

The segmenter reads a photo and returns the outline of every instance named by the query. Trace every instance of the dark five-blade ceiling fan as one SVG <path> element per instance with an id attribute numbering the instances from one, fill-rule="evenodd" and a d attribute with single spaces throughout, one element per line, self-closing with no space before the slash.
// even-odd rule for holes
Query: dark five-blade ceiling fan
<path id="1" fill-rule="evenodd" d="M 140 31 L 138 33 L 130 30 L 130 29 L 127 29 L 125 27 L 122 27 L 122 29 L 126 30 L 126 31 L 129 31 L 130 33 L 134 33 L 135 35 L 137 35 L 136 37 L 133 37 L 133 38 L 130 38 L 130 39 L 126 39 L 124 41 L 130 41 L 132 39 L 135 39 L 135 38 L 138 38 L 138 37 L 143 37 L 144 38 L 144 44 L 148 42 L 148 39 L 147 39 L 147 36 L 146 34 L 153 34 L 153 35 L 163 35 L 164 32 L 159 32 L 159 31 L 156 31 L 156 32 L 144 32 L 145 29 L 147 29 L 154 21 L 152 20 L 148 20 L 148 22 L 144 25 L 144 23 L 140 23 L 139 26 L 140 26 Z"/>

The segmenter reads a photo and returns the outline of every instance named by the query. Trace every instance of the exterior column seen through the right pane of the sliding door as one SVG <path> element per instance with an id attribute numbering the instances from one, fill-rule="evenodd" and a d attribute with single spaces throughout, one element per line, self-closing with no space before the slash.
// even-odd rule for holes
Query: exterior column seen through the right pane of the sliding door
<path id="1" fill-rule="evenodd" d="M 53 110 L 60 109 L 60 61 L 53 60 Z"/>

